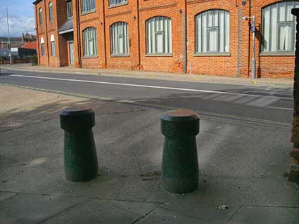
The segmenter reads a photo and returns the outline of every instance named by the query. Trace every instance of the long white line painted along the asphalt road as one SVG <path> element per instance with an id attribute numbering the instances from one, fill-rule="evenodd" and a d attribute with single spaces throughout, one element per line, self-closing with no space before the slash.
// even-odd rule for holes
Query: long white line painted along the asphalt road
<path id="1" fill-rule="evenodd" d="M 160 89 L 170 89 L 170 90 L 177 90 L 177 91 L 190 91 L 190 92 L 199 92 L 199 93 L 219 93 L 219 94 L 227 94 L 227 95 L 244 95 L 244 96 L 251 96 L 251 97 L 279 98 L 279 99 L 292 100 L 292 98 L 279 97 L 279 96 L 274 96 L 274 95 L 252 95 L 252 94 L 246 94 L 246 93 L 229 93 L 229 92 L 222 92 L 222 91 L 208 91 L 208 90 L 200 90 L 200 89 L 193 89 L 193 88 L 176 88 L 176 87 L 167 87 L 167 86 L 146 86 L 146 85 L 137 85 L 137 84 L 122 84 L 122 83 L 108 82 L 108 81 L 90 81 L 90 80 L 82 80 L 82 79 L 63 79 L 63 78 L 53 78 L 53 77 L 37 77 L 37 76 L 30 76 L 30 75 L 23 75 L 23 74 L 8 74 L 8 76 L 10 76 L 10 77 L 25 77 L 25 78 L 32 78 L 32 79 L 51 79 L 51 80 L 60 80 L 60 81 L 76 81 L 76 82 L 83 82 L 83 83 L 106 84 L 106 85 L 115 85 L 115 86 L 134 86 L 134 87 L 143 87 L 143 88 L 160 88 Z"/>

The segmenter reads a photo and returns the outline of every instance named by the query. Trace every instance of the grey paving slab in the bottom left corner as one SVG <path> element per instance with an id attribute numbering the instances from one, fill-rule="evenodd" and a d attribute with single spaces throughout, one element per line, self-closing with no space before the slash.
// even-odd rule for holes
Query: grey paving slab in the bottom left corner
<path id="1" fill-rule="evenodd" d="M 18 195 L 0 203 L 1 224 L 36 224 L 82 202 L 80 198 Z"/>

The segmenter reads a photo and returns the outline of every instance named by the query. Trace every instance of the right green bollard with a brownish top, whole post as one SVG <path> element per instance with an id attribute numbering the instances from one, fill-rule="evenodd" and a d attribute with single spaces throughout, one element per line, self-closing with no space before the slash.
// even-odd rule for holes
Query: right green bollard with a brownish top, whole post
<path id="1" fill-rule="evenodd" d="M 163 189 L 177 194 L 197 190 L 198 115 L 190 110 L 167 112 L 161 117 L 161 131 L 165 136 L 161 176 Z"/>

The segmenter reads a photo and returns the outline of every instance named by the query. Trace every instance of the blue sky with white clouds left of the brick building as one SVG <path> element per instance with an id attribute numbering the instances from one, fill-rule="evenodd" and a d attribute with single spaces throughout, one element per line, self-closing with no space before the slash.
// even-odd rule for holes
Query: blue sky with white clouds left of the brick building
<path id="1" fill-rule="evenodd" d="M 6 6 L 11 37 L 22 37 L 26 31 L 35 34 L 34 0 L 0 0 L 0 37 L 8 37 Z"/>

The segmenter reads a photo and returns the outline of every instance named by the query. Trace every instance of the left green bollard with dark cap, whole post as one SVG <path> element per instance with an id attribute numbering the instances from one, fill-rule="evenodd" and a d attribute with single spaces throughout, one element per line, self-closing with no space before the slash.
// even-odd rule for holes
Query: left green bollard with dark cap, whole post
<path id="1" fill-rule="evenodd" d="M 68 108 L 60 113 L 61 128 L 65 130 L 65 178 L 70 181 L 89 181 L 98 176 L 98 159 L 92 127 L 91 109 Z"/>

